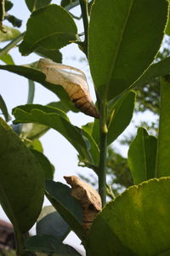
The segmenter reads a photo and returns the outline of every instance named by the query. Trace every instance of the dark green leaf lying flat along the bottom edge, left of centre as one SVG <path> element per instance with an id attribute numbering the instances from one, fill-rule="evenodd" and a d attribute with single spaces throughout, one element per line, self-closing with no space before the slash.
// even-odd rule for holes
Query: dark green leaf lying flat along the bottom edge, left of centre
<path id="1" fill-rule="evenodd" d="M 26 250 L 45 252 L 45 253 L 55 253 L 56 256 L 80 256 L 80 253 L 68 245 L 63 244 L 54 236 L 31 236 L 26 240 Z"/>

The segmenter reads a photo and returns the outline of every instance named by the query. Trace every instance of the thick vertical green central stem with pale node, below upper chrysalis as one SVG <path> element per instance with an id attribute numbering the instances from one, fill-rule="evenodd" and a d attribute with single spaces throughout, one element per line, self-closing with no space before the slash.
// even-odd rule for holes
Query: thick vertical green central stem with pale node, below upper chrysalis
<path id="1" fill-rule="evenodd" d="M 106 202 L 106 156 L 107 156 L 107 125 L 106 103 L 100 104 L 100 158 L 99 158 L 99 195 L 102 205 Z"/>

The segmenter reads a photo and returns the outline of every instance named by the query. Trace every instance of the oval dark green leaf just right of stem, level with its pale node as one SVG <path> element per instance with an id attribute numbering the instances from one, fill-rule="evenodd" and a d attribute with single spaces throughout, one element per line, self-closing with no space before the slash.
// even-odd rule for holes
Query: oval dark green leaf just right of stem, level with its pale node
<path id="1" fill-rule="evenodd" d="M 116 106 L 112 111 L 111 120 L 108 125 L 108 145 L 113 143 L 116 138 L 127 128 L 133 118 L 133 109 L 136 94 L 128 91 L 116 102 Z"/>

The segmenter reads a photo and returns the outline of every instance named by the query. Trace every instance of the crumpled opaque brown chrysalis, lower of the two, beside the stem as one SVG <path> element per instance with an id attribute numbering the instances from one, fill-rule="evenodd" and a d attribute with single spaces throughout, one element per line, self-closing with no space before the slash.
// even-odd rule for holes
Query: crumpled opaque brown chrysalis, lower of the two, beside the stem
<path id="1" fill-rule="evenodd" d="M 99 193 L 88 183 L 77 176 L 65 176 L 66 183 L 71 185 L 71 196 L 82 206 L 82 228 L 89 230 L 95 216 L 102 210 Z"/>

